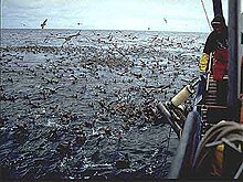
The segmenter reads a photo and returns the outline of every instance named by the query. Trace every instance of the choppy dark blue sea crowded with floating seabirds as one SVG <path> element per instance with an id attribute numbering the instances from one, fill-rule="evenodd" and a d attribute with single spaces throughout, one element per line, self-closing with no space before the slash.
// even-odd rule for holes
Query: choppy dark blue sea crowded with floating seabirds
<path id="1" fill-rule="evenodd" d="M 178 140 L 151 108 L 197 77 L 205 34 L 77 33 L 1 30 L 2 178 L 165 179 Z"/>

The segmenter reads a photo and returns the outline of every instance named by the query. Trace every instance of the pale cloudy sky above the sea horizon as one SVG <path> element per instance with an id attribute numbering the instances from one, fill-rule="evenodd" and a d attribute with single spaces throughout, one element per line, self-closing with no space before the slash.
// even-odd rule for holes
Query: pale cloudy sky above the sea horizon
<path id="1" fill-rule="evenodd" d="M 212 0 L 203 0 L 210 21 Z M 228 0 L 223 1 L 228 20 Z M 210 32 L 201 0 L 1 0 L 3 29 Z"/>

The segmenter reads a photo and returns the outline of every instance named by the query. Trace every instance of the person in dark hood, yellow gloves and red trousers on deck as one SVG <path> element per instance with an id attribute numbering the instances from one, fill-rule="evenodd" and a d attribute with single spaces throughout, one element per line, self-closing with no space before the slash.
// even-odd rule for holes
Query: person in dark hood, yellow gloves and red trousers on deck
<path id="1" fill-rule="evenodd" d="M 216 81 L 216 104 L 226 105 L 228 82 L 223 76 L 228 74 L 229 68 L 229 39 L 228 26 L 223 15 L 218 14 L 211 22 L 213 31 L 205 41 L 202 56 L 199 62 L 200 75 L 205 78 L 208 74 L 213 75 Z M 212 67 L 209 67 L 210 54 L 212 54 Z"/>

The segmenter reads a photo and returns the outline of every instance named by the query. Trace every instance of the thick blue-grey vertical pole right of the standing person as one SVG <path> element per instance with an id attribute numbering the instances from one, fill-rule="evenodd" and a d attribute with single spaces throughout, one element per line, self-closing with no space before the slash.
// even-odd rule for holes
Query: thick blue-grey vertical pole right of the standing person
<path id="1" fill-rule="evenodd" d="M 235 119 L 237 115 L 237 13 L 239 0 L 229 0 L 229 95 L 228 107 L 230 109 L 230 118 Z"/>

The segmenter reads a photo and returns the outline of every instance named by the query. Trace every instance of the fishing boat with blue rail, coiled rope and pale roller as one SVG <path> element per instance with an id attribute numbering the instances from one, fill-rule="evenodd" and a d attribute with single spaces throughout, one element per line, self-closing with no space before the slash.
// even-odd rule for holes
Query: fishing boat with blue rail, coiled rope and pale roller
<path id="1" fill-rule="evenodd" d="M 223 13 L 221 0 L 212 0 L 214 15 Z M 225 105 L 215 101 L 215 81 L 197 78 L 158 110 L 180 142 L 169 179 L 243 178 L 243 2 L 229 0 L 229 72 Z M 219 92 L 219 90 L 218 90 Z M 191 109 L 184 109 L 192 97 Z"/>

